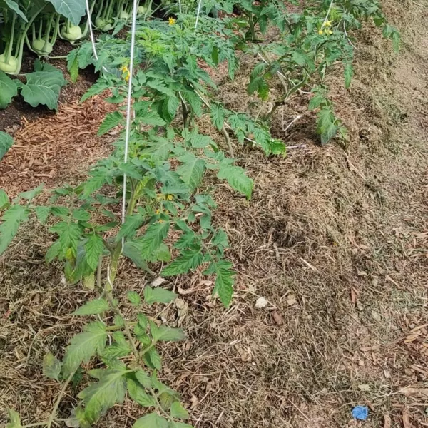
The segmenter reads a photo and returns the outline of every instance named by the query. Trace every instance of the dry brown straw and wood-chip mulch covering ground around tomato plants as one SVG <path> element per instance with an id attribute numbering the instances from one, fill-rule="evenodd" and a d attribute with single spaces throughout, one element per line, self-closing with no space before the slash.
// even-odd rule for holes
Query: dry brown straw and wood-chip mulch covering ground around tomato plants
<path id="1" fill-rule="evenodd" d="M 195 272 L 167 283 L 181 294 L 178 307 L 148 309 L 188 333 L 163 347 L 161 376 L 183 395 L 195 427 L 428 426 L 428 2 L 382 4 L 401 31 L 402 50 L 394 54 L 368 26 L 355 41 L 350 90 L 339 68 L 328 77 L 349 142 L 317 146 L 302 94 L 275 118 L 275 135 L 297 146 L 286 158 L 236 149 L 255 192 L 250 201 L 227 185 L 215 194 L 215 222 L 228 231 L 238 272 L 231 307 L 213 300 L 212 283 Z M 221 86 L 223 101 L 240 110 L 249 101 L 246 78 Z M 34 164 L 26 164 L 24 178 L 16 171 L 51 128 L 61 129 L 54 134 L 61 142 L 55 156 L 56 137 L 47 140 L 58 166 L 49 186 L 77 180 L 108 152 L 108 140 L 95 135 L 106 111 L 98 98 L 23 123 L 18 147 L 0 165 L 1 187 L 16 193 L 45 179 Z M 86 134 L 77 138 L 73 123 Z M 221 142 L 207 123 L 205 131 Z M 61 355 L 80 327 L 69 314 L 91 297 L 63 283 L 60 265 L 44 263 L 49 235 L 30 226 L 0 258 L 1 422 L 7 407 L 26 423 L 46 419 L 58 385 L 41 375 L 41 360 L 47 350 Z M 123 294 L 147 280 L 122 263 Z M 267 307 L 255 308 L 258 297 Z M 75 402 L 70 389 L 63 417 Z M 370 409 L 365 422 L 352 419 L 358 404 Z M 126 402 L 98 426 L 131 427 L 141 414 Z"/>

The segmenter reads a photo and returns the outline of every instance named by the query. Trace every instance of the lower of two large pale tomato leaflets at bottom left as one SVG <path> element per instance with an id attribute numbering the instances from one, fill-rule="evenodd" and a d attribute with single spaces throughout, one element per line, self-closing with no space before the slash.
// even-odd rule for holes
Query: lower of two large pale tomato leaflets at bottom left
<path id="1" fill-rule="evenodd" d="M 126 368 L 102 370 L 100 381 L 89 385 L 78 394 L 85 403 L 88 422 L 95 423 L 101 414 L 114 404 L 122 404 L 126 394 Z"/>

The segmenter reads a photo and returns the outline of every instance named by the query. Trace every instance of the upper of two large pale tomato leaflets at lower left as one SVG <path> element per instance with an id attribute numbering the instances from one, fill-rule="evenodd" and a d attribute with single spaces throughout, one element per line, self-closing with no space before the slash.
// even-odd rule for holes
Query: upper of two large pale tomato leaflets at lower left
<path id="1" fill-rule="evenodd" d="M 96 352 L 101 354 L 106 347 L 106 340 L 106 325 L 103 322 L 96 321 L 86 325 L 84 331 L 74 336 L 68 345 L 63 359 L 64 375 L 74 372 L 81 362 L 89 362 Z"/>

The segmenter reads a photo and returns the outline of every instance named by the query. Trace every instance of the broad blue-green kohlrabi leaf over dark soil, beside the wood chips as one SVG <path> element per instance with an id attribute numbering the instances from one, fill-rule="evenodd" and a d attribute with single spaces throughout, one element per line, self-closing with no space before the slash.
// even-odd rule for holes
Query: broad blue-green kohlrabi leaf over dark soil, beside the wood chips
<path id="1" fill-rule="evenodd" d="M 61 71 L 35 71 L 27 73 L 26 84 L 19 84 L 21 96 L 31 107 L 44 104 L 51 110 L 58 110 L 61 87 L 66 84 Z"/>

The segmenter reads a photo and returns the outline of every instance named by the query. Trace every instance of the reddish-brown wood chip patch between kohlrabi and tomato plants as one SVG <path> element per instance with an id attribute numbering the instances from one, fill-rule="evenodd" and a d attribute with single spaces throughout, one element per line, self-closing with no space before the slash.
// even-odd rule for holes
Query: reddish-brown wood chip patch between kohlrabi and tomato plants
<path id="1" fill-rule="evenodd" d="M 0 163 L 0 188 L 9 196 L 36 187 L 76 178 L 76 170 L 105 156 L 111 136 L 96 135 L 101 121 L 117 106 L 101 96 L 62 106 L 54 116 L 29 122 L 23 117 L 14 132 L 14 146 Z"/>

